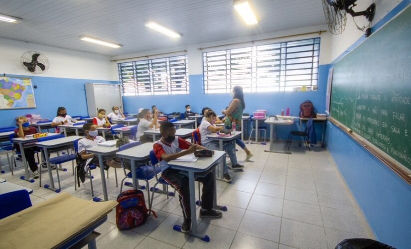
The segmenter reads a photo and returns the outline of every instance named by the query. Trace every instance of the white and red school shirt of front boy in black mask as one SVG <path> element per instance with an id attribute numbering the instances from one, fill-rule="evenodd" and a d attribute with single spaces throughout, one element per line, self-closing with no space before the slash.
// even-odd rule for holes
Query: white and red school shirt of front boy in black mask
<path id="1" fill-rule="evenodd" d="M 172 143 L 166 143 L 162 139 L 157 140 L 154 142 L 153 145 L 153 150 L 154 150 L 154 155 L 157 157 L 159 164 L 161 166 L 161 172 L 164 172 L 168 167 L 168 163 L 161 159 L 161 155 L 166 153 L 166 154 L 175 154 L 177 152 L 180 152 L 183 149 L 188 149 L 191 146 L 191 143 L 176 136 L 174 141 Z"/>

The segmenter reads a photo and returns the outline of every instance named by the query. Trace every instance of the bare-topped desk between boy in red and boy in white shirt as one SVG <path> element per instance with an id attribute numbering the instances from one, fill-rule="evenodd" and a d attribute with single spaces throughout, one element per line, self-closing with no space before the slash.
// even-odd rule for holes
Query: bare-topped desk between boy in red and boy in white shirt
<path id="1" fill-rule="evenodd" d="M 66 137 L 62 137 L 62 138 L 57 138 L 57 139 L 52 139 L 52 140 L 36 143 L 37 147 L 40 147 L 41 149 L 44 150 L 44 157 L 45 157 L 46 163 L 47 163 L 47 171 L 48 171 L 48 178 L 49 178 L 49 181 L 50 181 L 50 185 L 45 184 L 44 187 L 46 189 L 49 189 L 49 190 L 54 191 L 56 193 L 60 192 L 60 190 L 61 190 L 60 177 L 58 175 L 58 170 L 56 171 L 58 189 L 55 188 L 55 186 L 54 186 L 54 179 L 53 179 L 53 174 L 52 174 L 51 165 L 50 165 L 49 151 L 50 152 L 55 152 L 55 151 L 62 151 L 62 150 L 66 150 L 66 149 L 69 149 L 69 148 L 73 148 L 74 147 L 74 141 L 77 140 L 77 139 L 81 139 L 81 138 L 83 138 L 83 136 L 66 136 Z M 40 179 L 40 186 L 41 186 L 41 179 Z"/>

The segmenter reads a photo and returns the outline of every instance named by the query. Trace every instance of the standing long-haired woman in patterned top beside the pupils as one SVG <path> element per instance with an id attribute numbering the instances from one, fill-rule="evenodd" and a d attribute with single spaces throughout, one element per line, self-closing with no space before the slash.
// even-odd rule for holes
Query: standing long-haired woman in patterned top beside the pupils
<path id="1" fill-rule="evenodd" d="M 233 100 L 231 101 L 230 106 L 222 112 L 226 116 L 224 126 L 227 129 L 231 129 L 231 124 L 234 121 L 236 122 L 236 129 L 238 129 L 237 127 L 241 128 L 241 117 L 246 108 L 243 88 L 241 86 L 235 86 L 231 92 L 231 96 L 233 97 Z M 249 161 L 254 154 L 251 153 L 240 138 L 236 139 L 236 143 L 246 152 L 247 155 L 245 161 Z"/>

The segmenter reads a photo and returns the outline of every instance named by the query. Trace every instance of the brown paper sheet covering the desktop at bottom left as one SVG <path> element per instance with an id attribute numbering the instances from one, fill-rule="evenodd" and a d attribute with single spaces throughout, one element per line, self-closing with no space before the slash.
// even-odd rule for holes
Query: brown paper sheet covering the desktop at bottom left
<path id="1" fill-rule="evenodd" d="M 0 248 L 54 248 L 116 206 L 115 201 L 93 202 L 60 193 L 0 220 Z"/>

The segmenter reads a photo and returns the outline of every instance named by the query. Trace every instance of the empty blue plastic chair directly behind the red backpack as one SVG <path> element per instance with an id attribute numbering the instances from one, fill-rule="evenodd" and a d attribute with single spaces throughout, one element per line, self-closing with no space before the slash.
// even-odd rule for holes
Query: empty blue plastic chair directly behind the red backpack
<path id="1" fill-rule="evenodd" d="M 122 151 L 122 150 L 125 150 L 125 149 L 128 149 L 128 148 L 132 148 L 132 147 L 138 146 L 140 144 L 141 144 L 141 142 L 127 143 L 127 144 L 121 146 L 119 148 L 119 151 Z M 125 166 L 124 166 L 124 159 L 122 159 L 121 162 L 122 162 L 122 167 L 123 167 L 124 174 L 126 175 L 126 177 L 121 182 L 120 192 L 122 192 L 122 190 L 123 190 L 124 180 L 126 180 L 127 178 L 133 179 L 132 172 L 131 171 L 129 173 L 126 172 L 126 169 L 125 169 Z M 153 168 L 151 165 L 150 166 L 144 165 L 144 166 L 139 166 L 138 168 L 136 168 L 136 178 L 137 178 L 137 180 L 145 181 L 145 189 L 147 190 L 147 196 L 148 196 L 148 210 L 150 212 L 151 212 L 151 201 L 150 201 L 150 186 L 149 186 L 148 181 L 155 177 L 155 179 L 158 182 L 157 175 L 159 173 L 161 173 L 161 169 L 159 167 L 154 167 Z"/>

